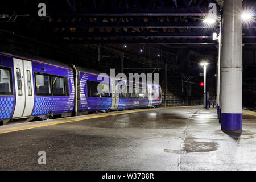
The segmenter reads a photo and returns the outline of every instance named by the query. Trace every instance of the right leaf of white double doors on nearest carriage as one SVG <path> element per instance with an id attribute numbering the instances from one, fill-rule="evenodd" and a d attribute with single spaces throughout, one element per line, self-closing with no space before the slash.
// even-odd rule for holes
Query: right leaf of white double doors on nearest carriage
<path id="1" fill-rule="evenodd" d="M 25 86 L 25 108 L 23 112 L 23 117 L 31 115 L 34 107 L 34 85 L 32 76 L 32 64 L 30 61 L 23 60 L 24 69 L 24 86 Z"/>

